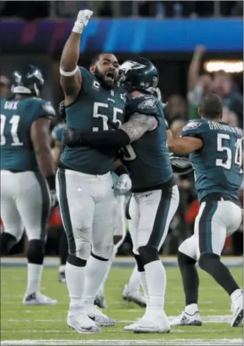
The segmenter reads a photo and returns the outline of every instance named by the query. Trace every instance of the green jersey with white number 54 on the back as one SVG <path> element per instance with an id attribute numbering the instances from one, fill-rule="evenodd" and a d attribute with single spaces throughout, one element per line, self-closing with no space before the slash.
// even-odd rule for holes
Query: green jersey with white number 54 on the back
<path id="1" fill-rule="evenodd" d="M 243 131 L 227 123 L 199 119 L 186 123 L 182 136 L 203 140 L 203 148 L 190 153 L 198 199 L 223 193 L 238 200 L 243 180 Z"/>

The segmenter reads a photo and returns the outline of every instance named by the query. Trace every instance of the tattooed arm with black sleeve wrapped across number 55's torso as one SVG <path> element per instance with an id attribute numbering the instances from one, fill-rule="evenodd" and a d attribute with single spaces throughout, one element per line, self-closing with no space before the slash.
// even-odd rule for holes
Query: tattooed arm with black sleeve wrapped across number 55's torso
<path id="1" fill-rule="evenodd" d="M 158 126 L 154 116 L 133 114 L 127 123 L 116 131 L 80 132 L 67 128 L 63 131 L 66 146 L 93 146 L 96 148 L 121 148 L 137 141 L 147 131 Z"/>

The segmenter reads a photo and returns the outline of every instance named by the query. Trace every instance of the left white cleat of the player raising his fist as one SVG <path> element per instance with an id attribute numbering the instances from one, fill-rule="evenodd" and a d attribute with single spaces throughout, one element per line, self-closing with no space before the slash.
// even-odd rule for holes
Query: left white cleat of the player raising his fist
<path id="1" fill-rule="evenodd" d="M 79 334 L 93 334 L 100 332 L 98 325 L 96 325 L 96 323 L 83 312 L 68 312 L 67 325 L 76 330 Z"/>

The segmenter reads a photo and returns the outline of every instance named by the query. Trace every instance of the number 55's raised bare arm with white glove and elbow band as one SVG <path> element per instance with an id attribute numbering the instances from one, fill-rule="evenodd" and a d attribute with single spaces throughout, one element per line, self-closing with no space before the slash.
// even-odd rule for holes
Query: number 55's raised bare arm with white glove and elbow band
<path id="1" fill-rule="evenodd" d="M 81 90 L 81 71 L 77 65 L 80 55 L 81 34 L 92 14 L 93 12 L 88 9 L 78 12 L 71 35 L 63 48 L 60 61 L 60 83 L 66 105 L 72 103 Z"/>

